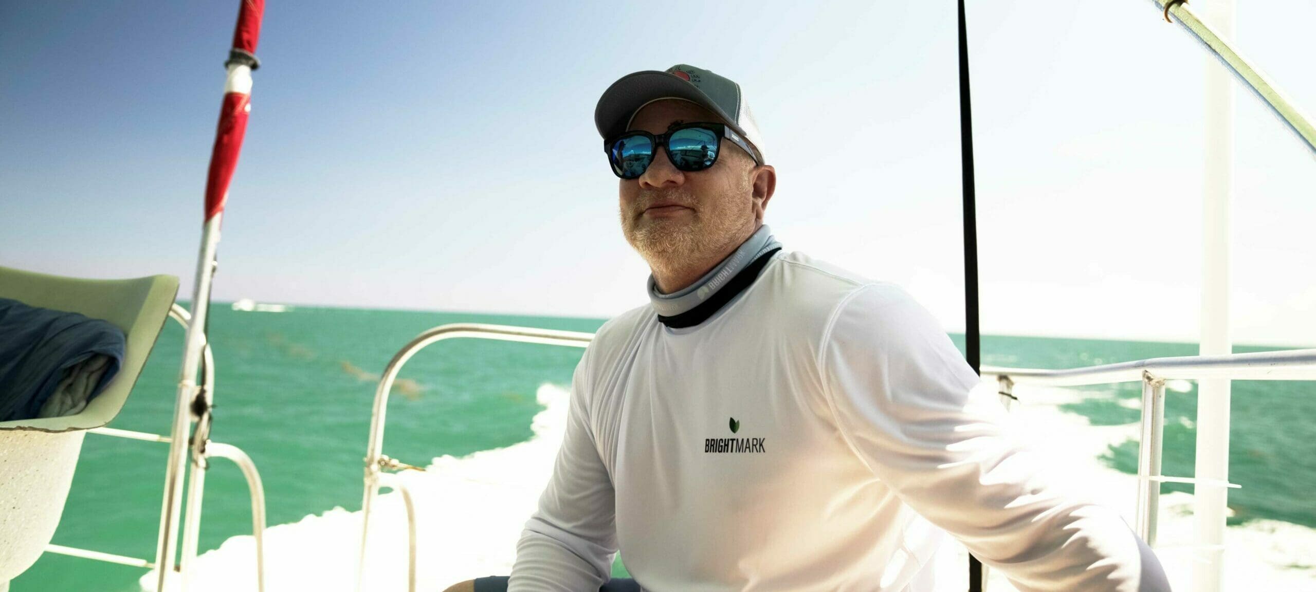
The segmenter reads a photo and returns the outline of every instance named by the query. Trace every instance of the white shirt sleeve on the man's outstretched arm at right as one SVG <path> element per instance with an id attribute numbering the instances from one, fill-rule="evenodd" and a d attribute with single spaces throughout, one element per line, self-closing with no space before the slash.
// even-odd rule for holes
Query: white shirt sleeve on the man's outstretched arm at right
<path id="1" fill-rule="evenodd" d="M 1005 430 L 991 384 L 894 284 L 851 292 L 819 350 L 842 437 L 915 512 L 1020 591 L 1169 591 L 1113 510 L 1061 493 Z"/>

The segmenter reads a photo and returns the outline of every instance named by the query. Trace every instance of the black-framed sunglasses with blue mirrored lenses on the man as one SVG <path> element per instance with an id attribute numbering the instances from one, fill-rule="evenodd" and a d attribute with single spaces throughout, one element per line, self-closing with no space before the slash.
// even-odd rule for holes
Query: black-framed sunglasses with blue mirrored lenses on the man
<path id="1" fill-rule="evenodd" d="M 726 124 L 682 124 L 667 129 L 667 133 L 654 136 L 649 132 L 630 130 L 603 143 L 608 153 L 612 172 L 622 179 L 638 179 L 654 162 L 657 146 L 667 150 L 667 159 L 678 170 L 703 171 L 717 163 L 721 139 L 745 150 L 755 164 L 762 164 L 758 151 Z"/>

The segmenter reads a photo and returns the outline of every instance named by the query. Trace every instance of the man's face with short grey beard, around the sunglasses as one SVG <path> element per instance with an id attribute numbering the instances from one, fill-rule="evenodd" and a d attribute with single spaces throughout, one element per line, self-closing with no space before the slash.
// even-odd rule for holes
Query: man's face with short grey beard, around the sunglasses
<path id="1" fill-rule="evenodd" d="M 683 100 L 661 100 L 636 113 L 629 129 L 667 133 L 682 122 L 720 121 Z M 717 162 L 703 171 L 678 170 L 658 149 L 638 179 L 621 179 L 621 230 L 650 264 L 701 260 L 733 249 L 758 228 L 762 204 L 753 184 L 754 159 L 721 142 Z"/>

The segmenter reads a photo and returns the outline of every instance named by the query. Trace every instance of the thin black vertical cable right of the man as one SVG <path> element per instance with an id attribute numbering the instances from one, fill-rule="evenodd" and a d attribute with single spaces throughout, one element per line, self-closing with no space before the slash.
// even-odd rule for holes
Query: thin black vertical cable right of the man
<path id="1" fill-rule="evenodd" d="M 959 155 L 965 187 L 965 354 L 974 372 L 980 371 L 978 333 L 978 217 L 974 208 L 974 122 L 969 100 L 969 33 L 965 0 L 959 0 Z M 983 564 L 969 555 L 969 592 L 982 592 Z"/>

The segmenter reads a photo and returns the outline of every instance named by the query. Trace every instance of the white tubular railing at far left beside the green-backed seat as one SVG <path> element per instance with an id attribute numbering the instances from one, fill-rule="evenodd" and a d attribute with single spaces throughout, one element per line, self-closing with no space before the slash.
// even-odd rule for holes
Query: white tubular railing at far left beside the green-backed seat
<path id="1" fill-rule="evenodd" d="M 179 304 L 174 304 L 170 308 L 170 318 L 178 321 L 186 329 L 191 321 L 191 314 L 187 309 Z M 205 491 L 205 471 L 208 468 L 207 459 L 209 458 L 226 458 L 233 460 L 242 471 L 242 476 L 246 479 L 247 491 L 251 493 L 251 534 L 255 537 L 255 564 L 257 564 L 257 589 L 265 591 L 265 488 L 261 484 L 261 474 L 255 470 L 255 463 L 236 446 L 211 442 L 209 441 L 209 404 L 211 397 L 215 392 L 215 357 L 211 353 L 211 345 L 204 343 L 201 351 L 201 396 L 205 397 L 204 410 L 197 409 L 197 407 L 190 405 L 192 409 L 192 421 L 197 424 L 196 429 L 192 432 L 192 437 L 188 441 L 174 441 L 167 435 L 151 434 L 146 432 L 133 432 L 121 430 L 117 428 L 93 428 L 87 430 L 92 434 L 111 435 L 116 438 L 137 439 L 143 442 L 163 442 L 170 445 L 171 454 L 183 454 L 190 451 L 191 456 L 191 483 L 188 487 L 187 499 L 187 513 L 183 516 L 183 553 L 179 556 L 179 563 L 170 567 L 170 571 L 179 572 L 180 584 L 179 589 L 186 591 L 188 587 L 190 567 L 196 559 L 196 545 L 197 537 L 201 530 L 201 496 Z M 195 401 L 193 401 L 195 403 Z M 175 449 L 180 449 L 175 451 Z M 182 491 L 186 476 L 182 471 L 174 471 L 172 464 L 170 470 L 166 471 L 164 484 L 166 491 L 178 489 Z M 178 524 L 179 516 L 175 512 L 166 516 L 162 520 L 162 528 L 159 537 L 157 539 L 157 549 L 163 549 L 166 545 L 172 546 L 178 539 Z M 164 567 L 158 566 L 157 562 L 149 559 L 138 559 L 125 555 L 114 555 L 111 553 L 92 551 L 89 549 L 78 549 L 63 545 L 46 545 L 46 553 L 54 553 L 59 555 L 78 556 L 83 559 L 92 559 L 107 563 L 117 563 L 121 566 L 141 567 L 146 570 L 161 570 Z M 161 579 L 163 580 L 163 578 Z M 161 589 L 159 592 L 164 592 Z"/>

